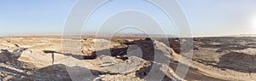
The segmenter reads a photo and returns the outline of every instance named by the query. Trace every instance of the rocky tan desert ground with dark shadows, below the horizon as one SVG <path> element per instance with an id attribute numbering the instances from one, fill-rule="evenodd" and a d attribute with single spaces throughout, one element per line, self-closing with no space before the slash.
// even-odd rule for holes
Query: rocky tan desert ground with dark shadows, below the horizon
<path id="1" fill-rule="evenodd" d="M 168 43 L 161 38 L 0 38 L 0 79 L 256 80 L 256 38 L 193 38 L 193 49 L 180 49 L 186 41 L 186 38 L 167 38 Z M 181 53 L 189 52 L 193 53 L 189 71 L 185 78 L 180 78 L 175 72 L 179 60 L 189 58 Z"/>

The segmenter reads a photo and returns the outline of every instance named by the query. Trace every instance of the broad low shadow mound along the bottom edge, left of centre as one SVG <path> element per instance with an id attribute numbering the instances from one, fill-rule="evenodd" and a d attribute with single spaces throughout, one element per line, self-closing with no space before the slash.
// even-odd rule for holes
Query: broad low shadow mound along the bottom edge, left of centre
<path id="1" fill-rule="evenodd" d="M 67 71 L 68 70 L 68 71 Z M 57 64 L 49 67 L 40 68 L 20 78 L 21 81 L 90 81 L 101 74 L 111 74 L 108 72 L 100 72 L 90 70 L 85 67 L 67 67 Z M 9 80 L 17 80 L 10 78 Z"/>

